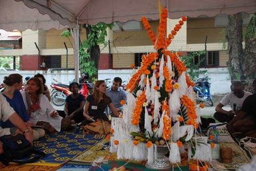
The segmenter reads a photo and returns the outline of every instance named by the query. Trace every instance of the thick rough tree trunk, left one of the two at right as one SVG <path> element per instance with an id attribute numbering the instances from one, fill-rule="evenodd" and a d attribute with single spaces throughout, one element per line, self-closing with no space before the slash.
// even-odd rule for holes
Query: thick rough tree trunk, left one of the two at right
<path id="1" fill-rule="evenodd" d="M 227 62 L 231 80 L 240 80 L 243 75 L 242 61 L 242 13 L 229 15 L 228 40 L 229 60 Z"/>

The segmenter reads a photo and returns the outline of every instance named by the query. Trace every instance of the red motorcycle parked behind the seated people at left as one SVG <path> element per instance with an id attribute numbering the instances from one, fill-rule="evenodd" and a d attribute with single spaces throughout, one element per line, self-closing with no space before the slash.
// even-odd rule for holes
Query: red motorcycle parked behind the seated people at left
<path id="1" fill-rule="evenodd" d="M 55 106 L 63 106 L 65 104 L 67 96 L 72 94 L 72 92 L 69 90 L 69 86 L 61 83 L 52 83 L 51 87 L 52 90 L 50 95 L 52 104 L 54 104 Z M 93 86 L 90 83 L 79 84 L 79 91 L 85 97 L 85 99 L 88 95 L 90 95 L 89 89 L 92 88 Z"/>

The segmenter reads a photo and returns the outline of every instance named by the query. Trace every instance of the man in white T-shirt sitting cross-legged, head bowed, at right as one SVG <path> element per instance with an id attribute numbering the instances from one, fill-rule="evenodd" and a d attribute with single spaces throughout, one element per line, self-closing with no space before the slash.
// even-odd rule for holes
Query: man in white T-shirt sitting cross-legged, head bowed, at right
<path id="1" fill-rule="evenodd" d="M 230 122 L 237 112 L 241 109 L 243 101 L 252 93 L 243 90 L 243 84 L 234 81 L 230 86 L 231 92 L 226 94 L 223 99 L 218 103 L 214 113 L 214 118 L 220 122 Z M 230 104 L 232 110 L 224 110 L 223 106 Z"/>

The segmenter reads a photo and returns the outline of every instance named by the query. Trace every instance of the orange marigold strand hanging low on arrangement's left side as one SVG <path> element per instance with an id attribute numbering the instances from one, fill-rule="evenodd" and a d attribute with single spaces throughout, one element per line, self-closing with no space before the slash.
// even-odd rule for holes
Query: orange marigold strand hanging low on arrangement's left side
<path id="1" fill-rule="evenodd" d="M 146 95 L 145 95 L 145 91 L 143 91 L 141 95 L 139 95 L 138 99 L 136 100 L 135 108 L 131 116 L 131 123 L 133 125 L 139 124 L 139 119 L 141 118 L 142 106 L 145 101 L 146 101 Z"/>

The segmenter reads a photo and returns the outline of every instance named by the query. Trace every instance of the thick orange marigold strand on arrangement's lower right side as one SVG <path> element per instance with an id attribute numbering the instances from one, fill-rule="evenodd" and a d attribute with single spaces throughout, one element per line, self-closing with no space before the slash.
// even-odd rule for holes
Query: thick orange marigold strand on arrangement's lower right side
<path id="1" fill-rule="evenodd" d="M 188 96 L 183 95 L 181 97 L 181 102 L 185 105 L 185 107 L 187 108 L 187 116 L 188 116 L 188 120 L 187 120 L 187 125 L 193 125 L 196 129 L 199 126 L 199 123 L 197 123 L 196 119 L 196 106 L 194 104 L 194 102 L 189 99 Z"/>

